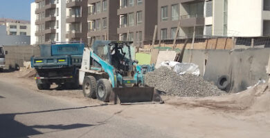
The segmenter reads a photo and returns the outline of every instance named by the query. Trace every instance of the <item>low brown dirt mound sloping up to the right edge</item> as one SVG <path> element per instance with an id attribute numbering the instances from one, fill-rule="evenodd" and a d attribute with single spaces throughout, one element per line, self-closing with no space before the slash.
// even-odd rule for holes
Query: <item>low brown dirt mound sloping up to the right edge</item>
<path id="1" fill-rule="evenodd" d="M 270 111 L 270 89 L 266 84 L 254 86 L 243 92 L 222 97 L 205 97 L 199 99 L 177 99 L 168 101 L 172 105 L 205 107 L 216 110 L 251 110 L 255 112 Z"/>

